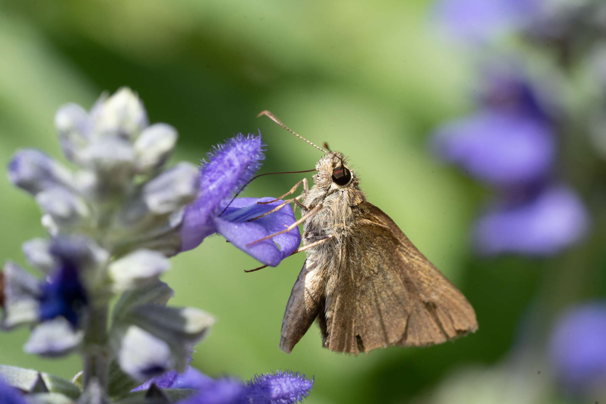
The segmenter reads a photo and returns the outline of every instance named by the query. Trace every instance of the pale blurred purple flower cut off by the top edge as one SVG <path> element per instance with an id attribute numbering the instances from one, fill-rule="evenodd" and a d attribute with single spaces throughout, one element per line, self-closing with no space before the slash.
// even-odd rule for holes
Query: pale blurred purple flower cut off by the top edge
<path id="1" fill-rule="evenodd" d="M 449 35 L 484 43 L 522 27 L 540 0 L 439 0 L 434 16 Z"/>

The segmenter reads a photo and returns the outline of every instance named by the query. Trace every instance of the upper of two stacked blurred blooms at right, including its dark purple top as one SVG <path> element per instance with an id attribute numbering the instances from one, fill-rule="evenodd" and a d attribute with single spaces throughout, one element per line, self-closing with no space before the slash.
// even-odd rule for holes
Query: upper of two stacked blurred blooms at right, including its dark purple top
<path id="1" fill-rule="evenodd" d="M 484 73 L 480 108 L 439 128 L 433 146 L 445 161 L 499 187 L 518 187 L 550 174 L 556 137 L 550 114 L 518 71 Z"/>

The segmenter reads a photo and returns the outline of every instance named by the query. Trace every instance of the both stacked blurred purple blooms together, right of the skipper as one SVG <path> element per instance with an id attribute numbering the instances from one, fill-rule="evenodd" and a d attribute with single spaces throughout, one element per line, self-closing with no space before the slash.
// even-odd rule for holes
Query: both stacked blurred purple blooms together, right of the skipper
<path id="1" fill-rule="evenodd" d="M 433 148 L 502 200 L 478 219 L 474 242 L 483 254 L 554 254 L 581 239 L 588 214 L 579 197 L 553 177 L 553 105 L 519 69 L 485 71 L 478 111 L 442 126 Z"/>

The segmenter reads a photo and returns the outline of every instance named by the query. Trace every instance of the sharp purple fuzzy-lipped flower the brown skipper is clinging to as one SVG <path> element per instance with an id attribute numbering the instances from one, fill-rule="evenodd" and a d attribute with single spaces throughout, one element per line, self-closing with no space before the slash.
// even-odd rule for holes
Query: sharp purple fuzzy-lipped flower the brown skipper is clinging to
<path id="1" fill-rule="evenodd" d="M 256 202 L 273 198 L 236 198 L 222 212 L 229 197 L 247 184 L 261 167 L 265 158 L 263 147 L 261 136 L 238 134 L 208 153 L 208 161 L 203 162 L 200 168 L 198 198 L 185 209 L 181 251 L 191 250 L 210 234 L 220 233 L 245 253 L 275 267 L 299 247 L 301 235 L 298 228 L 247 247 L 248 243 L 282 231 L 295 222 L 290 205 L 261 219 L 247 221 L 267 213 L 282 201 L 258 205 Z"/>

